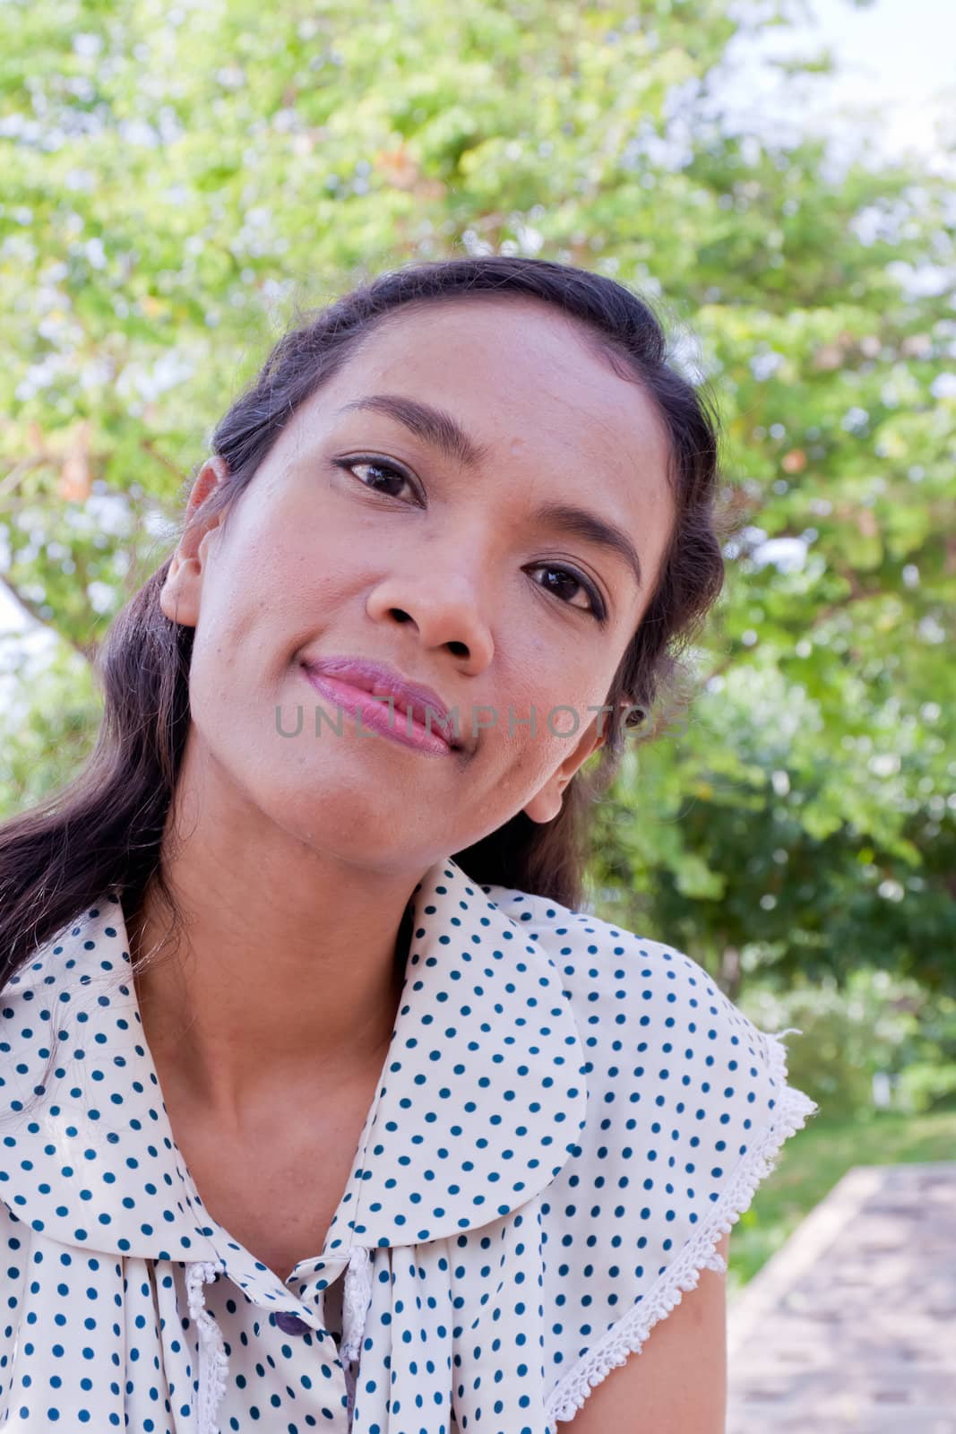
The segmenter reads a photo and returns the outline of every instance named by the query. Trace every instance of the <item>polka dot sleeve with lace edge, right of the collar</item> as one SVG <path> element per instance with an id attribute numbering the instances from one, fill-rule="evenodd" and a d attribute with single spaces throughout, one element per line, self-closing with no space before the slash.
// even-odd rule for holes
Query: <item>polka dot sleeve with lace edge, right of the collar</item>
<path id="1" fill-rule="evenodd" d="M 529 921 L 535 905 L 520 919 L 563 974 L 588 1073 L 586 1124 L 542 1212 L 553 1430 L 701 1271 L 727 1268 L 717 1242 L 818 1107 L 787 1084 L 790 1032 L 757 1030 L 689 956 L 548 903 Z"/>

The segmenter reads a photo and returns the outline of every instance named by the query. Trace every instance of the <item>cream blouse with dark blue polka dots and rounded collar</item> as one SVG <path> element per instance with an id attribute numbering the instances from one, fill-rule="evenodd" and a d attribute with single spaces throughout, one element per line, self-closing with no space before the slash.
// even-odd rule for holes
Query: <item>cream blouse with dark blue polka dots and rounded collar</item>
<path id="1" fill-rule="evenodd" d="M 0 1424 L 553 1434 L 725 1268 L 817 1110 L 780 1037 L 679 951 L 447 858 L 413 902 L 351 1174 L 287 1279 L 176 1149 L 115 896 L 9 981 Z"/>

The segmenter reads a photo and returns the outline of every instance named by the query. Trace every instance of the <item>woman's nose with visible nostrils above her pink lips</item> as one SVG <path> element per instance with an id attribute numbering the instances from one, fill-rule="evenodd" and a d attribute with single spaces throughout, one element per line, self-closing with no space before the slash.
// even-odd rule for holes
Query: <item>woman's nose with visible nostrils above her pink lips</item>
<path id="1" fill-rule="evenodd" d="M 393 574 L 378 582 L 365 604 L 376 622 L 411 624 L 427 648 L 447 650 L 480 673 L 492 661 L 494 641 L 467 578 L 439 568 Z"/>

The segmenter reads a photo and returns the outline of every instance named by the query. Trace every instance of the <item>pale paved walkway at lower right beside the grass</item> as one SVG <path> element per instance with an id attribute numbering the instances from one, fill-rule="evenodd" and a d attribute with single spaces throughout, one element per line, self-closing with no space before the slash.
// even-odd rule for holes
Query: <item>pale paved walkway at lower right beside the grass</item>
<path id="1" fill-rule="evenodd" d="M 727 1434 L 956 1434 L 956 1160 L 849 1170 L 731 1301 L 728 1358 Z"/>

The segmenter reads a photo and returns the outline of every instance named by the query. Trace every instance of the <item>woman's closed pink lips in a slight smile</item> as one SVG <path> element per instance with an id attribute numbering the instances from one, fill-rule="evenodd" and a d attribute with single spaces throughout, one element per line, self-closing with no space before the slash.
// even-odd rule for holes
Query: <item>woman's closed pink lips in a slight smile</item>
<path id="1" fill-rule="evenodd" d="M 322 657 L 314 663 L 304 663 L 302 668 L 318 693 L 360 716 L 365 730 L 373 728 L 404 746 L 436 756 L 462 750 L 463 744 L 454 734 L 453 723 L 449 740 L 441 733 L 447 724 L 449 710 L 439 694 L 430 687 L 408 683 L 384 663 L 354 657 Z M 386 697 L 391 697 L 393 703 L 387 703 Z"/>

